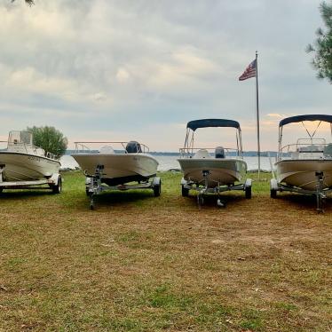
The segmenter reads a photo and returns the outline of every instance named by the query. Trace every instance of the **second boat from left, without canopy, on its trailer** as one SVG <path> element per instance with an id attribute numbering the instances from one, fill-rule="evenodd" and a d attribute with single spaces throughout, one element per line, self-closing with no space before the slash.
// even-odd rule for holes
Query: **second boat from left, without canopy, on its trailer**
<path id="1" fill-rule="evenodd" d="M 121 141 L 75 142 L 75 146 L 71 155 L 86 176 L 85 190 L 91 197 L 91 209 L 94 209 L 93 195 L 106 190 L 150 188 L 154 196 L 161 194 L 162 182 L 156 177 L 158 162 L 148 153 L 146 145 Z"/>

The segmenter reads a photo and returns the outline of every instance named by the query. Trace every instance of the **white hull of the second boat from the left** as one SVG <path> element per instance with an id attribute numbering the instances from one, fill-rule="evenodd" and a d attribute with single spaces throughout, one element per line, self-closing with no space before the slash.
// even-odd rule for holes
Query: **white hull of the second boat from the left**
<path id="1" fill-rule="evenodd" d="M 157 172 L 158 162 L 150 154 L 72 154 L 81 169 L 89 176 L 97 165 L 103 165 L 102 178 L 151 178 Z"/>

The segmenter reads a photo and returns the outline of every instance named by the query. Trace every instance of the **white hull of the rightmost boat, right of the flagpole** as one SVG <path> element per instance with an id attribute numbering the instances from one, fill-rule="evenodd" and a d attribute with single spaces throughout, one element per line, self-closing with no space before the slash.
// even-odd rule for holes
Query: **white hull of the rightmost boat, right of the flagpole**
<path id="1" fill-rule="evenodd" d="M 275 166 L 279 183 L 305 190 L 316 190 L 316 172 L 323 172 L 323 188 L 332 186 L 332 160 L 282 160 L 276 162 Z"/>

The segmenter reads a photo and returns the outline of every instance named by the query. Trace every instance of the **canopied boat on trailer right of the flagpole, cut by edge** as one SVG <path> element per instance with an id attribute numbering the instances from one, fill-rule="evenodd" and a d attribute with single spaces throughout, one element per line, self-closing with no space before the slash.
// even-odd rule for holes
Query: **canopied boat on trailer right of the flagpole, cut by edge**
<path id="1" fill-rule="evenodd" d="M 296 138 L 284 145 L 284 126 L 291 123 L 302 125 L 307 137 Z M 307 128 L 308 123 L 313 125 L 312 131 Z M 318 137 L 321 123 L 328 123 L 328 140 Z M 275 176 L 270 186 L 272 198 L 276 198 L 278 191 L 313 194 L 317 198 L 317 210 L 321 212 L 322 199 L 332 191 L 332 115 L 296 115 L 282 119 L 274 167 Z"/>

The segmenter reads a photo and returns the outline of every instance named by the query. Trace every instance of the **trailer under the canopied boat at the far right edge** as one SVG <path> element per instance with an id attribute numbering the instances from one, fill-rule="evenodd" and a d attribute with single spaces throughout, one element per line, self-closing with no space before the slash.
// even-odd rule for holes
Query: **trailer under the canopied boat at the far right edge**
<path id="1" fill-rule="evenodd" d="M 324 172 L 316 172 L 316 190 L 306 190 L 297 186 L 287 186 L 278 183 L 276 178 L 272 178 L 270 182 L 271 198 L 277 198 L 277 192 L 290 192 L 297 194 L 308 194 L 316 196 L 317 213 L 323 213 L 323 204 L 327 198 L 327 194 L 332 193 L 332 187 L 324 188 Z"/>

